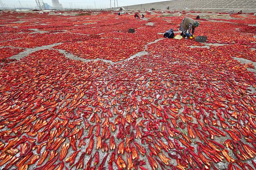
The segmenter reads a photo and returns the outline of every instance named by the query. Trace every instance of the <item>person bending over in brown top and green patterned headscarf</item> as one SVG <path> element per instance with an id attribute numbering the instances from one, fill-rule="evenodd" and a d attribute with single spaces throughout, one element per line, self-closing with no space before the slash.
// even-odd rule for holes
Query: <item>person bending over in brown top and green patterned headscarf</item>
<path id="1" fill-rule="evenodd" d="M 192 34 L 194 33 L 195 27 L 198 27 L 198 25 L 199 25 L 199 22 L 194 21 L 192 18 L 188 18 L 188 17 L 183 18 L 180 24 L 180 31 L 182 31 L 180 35 L 183 37 L 186 37 L 187 31 L 188 31 L 188 36 L 192 37 L 191 33 Z"/>

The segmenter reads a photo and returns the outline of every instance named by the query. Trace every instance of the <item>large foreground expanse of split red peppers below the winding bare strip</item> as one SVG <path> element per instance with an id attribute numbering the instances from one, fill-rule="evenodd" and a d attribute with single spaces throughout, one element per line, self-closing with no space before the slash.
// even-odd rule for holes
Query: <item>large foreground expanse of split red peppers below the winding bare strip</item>
<path id="1" fill-rule="evenodd" d="M 1 166 L 207 169 L 228 161 L 253 169 L 251 64 L 172 41 L 114 65 L 42 50 L 2 67 Z"/>

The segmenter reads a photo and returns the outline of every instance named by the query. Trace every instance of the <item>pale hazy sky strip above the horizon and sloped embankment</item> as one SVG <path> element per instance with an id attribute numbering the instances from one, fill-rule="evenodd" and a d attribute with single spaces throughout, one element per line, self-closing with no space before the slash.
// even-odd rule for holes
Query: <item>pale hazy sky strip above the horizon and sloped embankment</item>
<path id="1" fill-rule="evenodd" d="M 0 0 L 7 8 L 34 8 L 36 0 Z M 111 7 L 146 4 L 152 2 L 163 2 L 165 0 L 111 0 Z M 43 0 L 44 3 L 52 6 L 52 0 Z M 78 9 L 105 9 L 110 8 L 110 0 L 59 0 L 63 8 Z M 2 6 L 0 5 L 0 8 Z"/>

